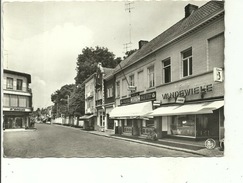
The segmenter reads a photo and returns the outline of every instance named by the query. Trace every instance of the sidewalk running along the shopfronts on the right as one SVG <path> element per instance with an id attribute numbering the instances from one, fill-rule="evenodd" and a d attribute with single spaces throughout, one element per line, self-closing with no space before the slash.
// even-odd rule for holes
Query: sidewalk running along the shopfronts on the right
<path id="1" fill-rule="evenodd" d="M 186 140 L 182 141 L 182 140 L 174 140 L 174 139 L 159 139 L 158 141 L 149 141 L 143 137 L 116 135 L 116 134 L 109 134 L 106 132 L 99 132 L 99 131 L 86 131 L 86 132 L 94 135 L 105 136 L 108 138 L 114 138 L 119 140 L 125 140 L 125 141 L 160 147 L 160 148 L 188 152 L 192 154 L 201 155 L 204 157 L 223 157 L 224 155 L 224 152 L 219 151 L 217 147 L 214 149 L 205 148 L 204 142 L 194 142 L 194 141 L 186 141 Z"/>

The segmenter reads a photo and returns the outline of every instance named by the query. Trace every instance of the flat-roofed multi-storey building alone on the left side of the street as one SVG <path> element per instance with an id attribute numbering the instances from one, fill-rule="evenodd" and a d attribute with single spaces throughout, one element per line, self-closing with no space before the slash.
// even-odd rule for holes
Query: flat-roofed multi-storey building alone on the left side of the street
<path id="1" fill-rule="evenodd" d="M 31 75 L 3 70 L 3 128 L 30 127 L 32 113 Z"/>

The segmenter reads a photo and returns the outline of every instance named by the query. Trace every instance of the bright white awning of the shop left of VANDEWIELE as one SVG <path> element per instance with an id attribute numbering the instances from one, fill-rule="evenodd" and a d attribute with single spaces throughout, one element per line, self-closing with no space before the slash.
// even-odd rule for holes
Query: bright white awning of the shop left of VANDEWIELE
<path id="1" fill-rule="evenodd" d="M 110 112 L 110 118 L 143 118 L 152 110 L 152 102 L 120 106 Z"/>

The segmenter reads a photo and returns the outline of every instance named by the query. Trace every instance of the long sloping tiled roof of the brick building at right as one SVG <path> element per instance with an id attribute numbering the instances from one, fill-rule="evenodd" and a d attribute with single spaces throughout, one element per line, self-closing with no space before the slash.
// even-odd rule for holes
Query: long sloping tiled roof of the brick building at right
<path id="1" fill-rule="evenodd" d="M 153 40 L 145 44 L 141 49 L 137 50 L 135 53 L 123 60 L 120 65 L 115 68 L 114 73 L 118 73 L 121 71 L 121 68 L 124 69 L 125 67 L 140 61 L 144 57 L 190 31 L 192 28 L 202 24 L 205 20 L 212 18 L 223 11 L 224 2 L 222 1 L 210 1 L 206 3 L 195 10 L 190 16 L 183 18 L 169 29 L 155 37 Z"/>

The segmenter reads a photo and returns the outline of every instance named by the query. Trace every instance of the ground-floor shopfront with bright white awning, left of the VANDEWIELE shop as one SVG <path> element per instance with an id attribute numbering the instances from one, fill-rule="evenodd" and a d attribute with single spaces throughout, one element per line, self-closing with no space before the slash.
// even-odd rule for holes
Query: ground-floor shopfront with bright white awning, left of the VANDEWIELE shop
<path id="1" fill-rule="evenodd" d="M 132 93 L 131 97 L 121 99 L 120 106 L 115 107 L 110 118 L 118 126 L 117 133 L 125 135 L 147 135 L 154 128 L 153 117 L 148 116 L 153 110 L 156 92 Z"/>

